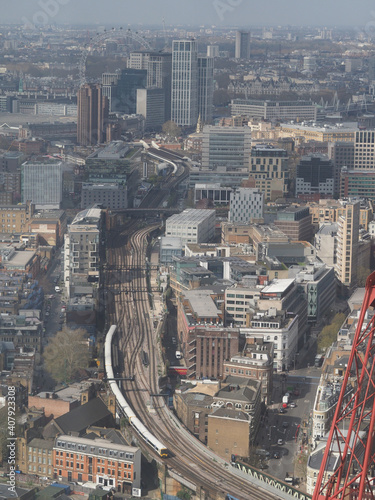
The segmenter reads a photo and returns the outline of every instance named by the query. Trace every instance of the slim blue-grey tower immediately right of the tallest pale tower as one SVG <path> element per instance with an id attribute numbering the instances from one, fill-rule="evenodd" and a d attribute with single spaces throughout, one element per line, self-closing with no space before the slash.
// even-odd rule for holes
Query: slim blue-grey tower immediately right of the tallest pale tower
<path id="1" fill-rule="evenodd" d="M 214 96 L 214 58 L 198 57 L 198 116 L 211 123 Z"/>

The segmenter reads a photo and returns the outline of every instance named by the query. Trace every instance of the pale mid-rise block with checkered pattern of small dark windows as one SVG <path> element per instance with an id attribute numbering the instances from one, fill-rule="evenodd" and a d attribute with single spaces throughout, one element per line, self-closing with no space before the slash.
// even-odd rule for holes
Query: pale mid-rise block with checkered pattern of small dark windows
<path id="1" fill-rule="evenodd" d="M 258 189 L 237 188 L 230 194 L 229 222 L 249 224 L 263 218 L 264 195 Z"/>

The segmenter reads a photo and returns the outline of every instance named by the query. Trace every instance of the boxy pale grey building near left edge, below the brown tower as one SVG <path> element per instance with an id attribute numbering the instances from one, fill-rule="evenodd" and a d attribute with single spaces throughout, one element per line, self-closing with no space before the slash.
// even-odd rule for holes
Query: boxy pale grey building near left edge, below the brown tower
<path id="1" fill-rule="evenodd" d="M 60 208 L 62 201 L 61 161 L 40 159 L 21 166 L 22 201 L 30 200 L 35 208 Z"/>

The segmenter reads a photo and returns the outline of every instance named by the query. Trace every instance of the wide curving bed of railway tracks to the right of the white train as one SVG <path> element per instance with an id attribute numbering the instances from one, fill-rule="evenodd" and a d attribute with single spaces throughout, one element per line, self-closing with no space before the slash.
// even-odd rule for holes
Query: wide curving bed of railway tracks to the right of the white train
<path id="1" fill-rule="evenodd" d="M 176 424 L 163 398 L 157 398 L 153 409 L 149 407 L 150 394 L 159 393 L 158 380 L 162 374 L 150 317 L 145 268 L 147 237 L 156 227 L 135 230 L 136 221 L 133 221 L 126 233 L 112 239 L 108 249 L 107 284 L 112 303 L 108 304 L 107 311 L 110 324 L 117 325 L 117 346 L 113 346 L 112 359 L 117 362 L 119 375 L 135 375 L 134 381 L 122 382 L 126 401 L 147 429 L 166 445 L 169 458 L 163 460 L 164 464 L 199 485 L 205 497 L 230 493 L 239 500 L 279 498 L 225 468 L 223 460 L 215 458 Z M 127 234 L 132 231 L 128 238 Z M 142 364 L 143 352 L 148 355 L 148 367 Z M 152 447 L 150 453 L 156 454 Z"/>

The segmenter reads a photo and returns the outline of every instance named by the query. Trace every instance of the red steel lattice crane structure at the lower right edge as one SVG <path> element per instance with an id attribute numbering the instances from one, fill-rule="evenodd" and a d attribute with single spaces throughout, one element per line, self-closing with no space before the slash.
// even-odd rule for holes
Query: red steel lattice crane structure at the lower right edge
<path id="1" fill-rule="evenodd" d="M 366 281 L 352 350 L 312 500 L 375 498 L 374 307 L 375 272 Z"/>

